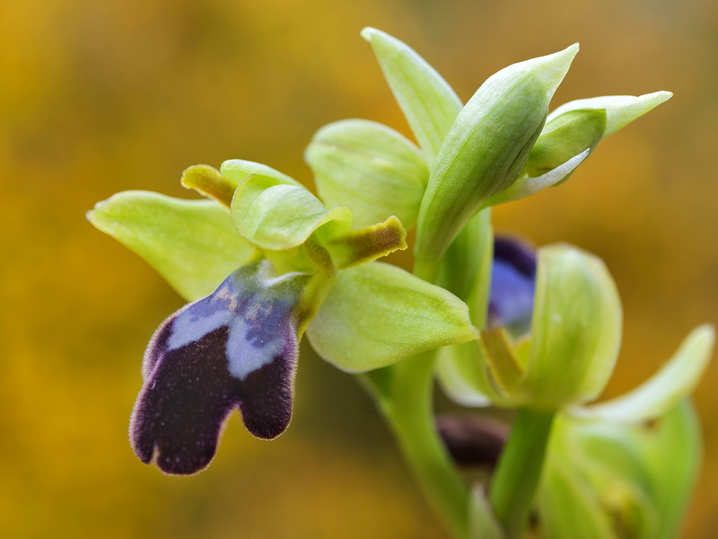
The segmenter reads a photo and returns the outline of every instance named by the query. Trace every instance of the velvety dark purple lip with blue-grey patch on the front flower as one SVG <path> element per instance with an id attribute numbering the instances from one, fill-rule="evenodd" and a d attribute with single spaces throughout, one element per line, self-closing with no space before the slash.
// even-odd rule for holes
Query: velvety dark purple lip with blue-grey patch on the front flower
<path id="1" fill-rule="evenodd" d="M 244 266 L 155 331 L 130 421 L 144 463 L 154 459 L 165 473 L 205 468 L 235 408 L 256 437 L 275 438 L 289 425 L 296 313 L 310 276 L 271 278 L 270 270 L 266 261 Z"/>

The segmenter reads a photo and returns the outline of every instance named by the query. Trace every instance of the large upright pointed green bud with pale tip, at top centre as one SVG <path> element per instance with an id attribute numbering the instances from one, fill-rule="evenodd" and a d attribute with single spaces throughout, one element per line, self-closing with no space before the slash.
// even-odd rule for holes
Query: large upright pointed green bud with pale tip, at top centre
<path id="1" fill-rule="evenodd" d="M 416 272 L 433 280 L 436 261 L 483 202 L 519 178 L 546 120 L 548 102 L 578 52 L 508 66 L 489 77 L 446 135 L 416 225 Z"/>

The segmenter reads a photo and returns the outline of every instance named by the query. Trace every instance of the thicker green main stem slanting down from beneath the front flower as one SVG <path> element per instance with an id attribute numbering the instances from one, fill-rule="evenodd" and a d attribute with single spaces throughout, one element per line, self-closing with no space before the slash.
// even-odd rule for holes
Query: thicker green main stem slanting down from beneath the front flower
<path id="1" fill-rule="evenodd" d="M 407 464 L 445 526 L 468 538 L 468 486 L 461 479 L 433 419 L 434 354 L 372 371 L 363 381 L 394 432 Z"/>

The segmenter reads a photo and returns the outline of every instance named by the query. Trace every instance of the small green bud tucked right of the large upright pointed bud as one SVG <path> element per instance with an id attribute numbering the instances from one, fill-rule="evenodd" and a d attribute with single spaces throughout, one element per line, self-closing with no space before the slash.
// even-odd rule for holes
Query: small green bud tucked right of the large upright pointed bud
<path id="1" fill-rule="evenodd" d="M 524 172 L 531 177 L 542 176 L 586 149 L 592 152 L 605 128 L 605 110 L 570 110 L 556 116 L 541 130 Z"/>

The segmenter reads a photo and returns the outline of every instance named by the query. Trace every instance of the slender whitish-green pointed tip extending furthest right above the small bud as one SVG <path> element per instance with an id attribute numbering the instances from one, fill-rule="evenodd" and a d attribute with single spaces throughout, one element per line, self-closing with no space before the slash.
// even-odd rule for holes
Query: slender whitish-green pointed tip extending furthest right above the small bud
<path id="1" fill-rule="evenodd" d="M 547 121 L 558 118 L 570 110 L 605 110 L 606 128 L 603 137 L 613 135 L 619 129 L 625 128 L 635 119 L 640 118 L 649 110 L 656 108 L 662 102 L 672 97 L 670 92 L 646 93 L 635 97 L 633 95 L 606 95 L 591 97 L 567 102 L 548 115 Z"/>

